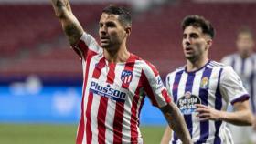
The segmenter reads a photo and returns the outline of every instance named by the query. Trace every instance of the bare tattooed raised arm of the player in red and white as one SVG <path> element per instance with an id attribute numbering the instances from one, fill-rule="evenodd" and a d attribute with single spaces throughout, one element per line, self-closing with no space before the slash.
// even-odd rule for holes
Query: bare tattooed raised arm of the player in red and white
<path id="1" fill-rule="evenodd" d="M 51 0 L 55 14 L 59 17 L 62 29 L 69 38 L 70 45 L 75 45 L 82 36 L 83 29 L 80 22 L 73 15 L 69 0 Z"/>

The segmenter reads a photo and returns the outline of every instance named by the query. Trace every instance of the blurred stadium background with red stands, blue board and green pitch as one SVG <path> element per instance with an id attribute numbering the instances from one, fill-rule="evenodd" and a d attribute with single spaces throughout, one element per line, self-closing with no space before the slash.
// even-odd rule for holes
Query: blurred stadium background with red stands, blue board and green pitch
<path id="1" fill-rule="evenodd" d="M 185 63 L 180 22 L 204 15 L 216 27 L 210 57 L 235 50 L 240 26 L 256 29 L 256 0 L 70 0 L 80 23 L 98 38 L 103 7 L 133 11 L 128 48 L 165 75 Z M 80 118 L 80 59 L 69 48 L 48 0 L 0 0 L 0 143 L 74 143 Z M 141 114 L 145 143 L 159 143 L 165 127 L 148 100 Z"/>

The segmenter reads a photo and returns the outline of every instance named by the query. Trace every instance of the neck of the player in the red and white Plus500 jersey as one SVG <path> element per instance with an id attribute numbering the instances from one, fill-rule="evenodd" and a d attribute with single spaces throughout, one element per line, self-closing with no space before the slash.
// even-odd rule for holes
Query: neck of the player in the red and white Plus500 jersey
<path id="1" fill-rule="evenodd" d="M 120 46 L 117 50 L 106 50 L 104 49 L 104 57 L 110 63 L 125 62 L 130 57 L 130 52 L 127 50 L 125 45 Z"/>

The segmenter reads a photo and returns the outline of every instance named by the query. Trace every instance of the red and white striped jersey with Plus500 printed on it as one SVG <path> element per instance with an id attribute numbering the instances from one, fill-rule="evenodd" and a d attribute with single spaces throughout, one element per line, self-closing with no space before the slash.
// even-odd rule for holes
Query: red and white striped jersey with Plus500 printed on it
<path id="1" fill-rule="evenodd" d="M 133 54 L 109 63 L 95 39 L 84 33 L 74 50 L 83 69 L 77 144 L 143 143 L 139 116 L 145 96 L 158 108 L 171 101 L 155 67 Z"/>

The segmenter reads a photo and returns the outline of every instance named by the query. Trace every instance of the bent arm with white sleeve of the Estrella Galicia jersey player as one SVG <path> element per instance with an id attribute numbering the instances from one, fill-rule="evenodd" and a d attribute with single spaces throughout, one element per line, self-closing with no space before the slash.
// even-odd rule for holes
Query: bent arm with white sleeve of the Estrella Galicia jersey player
<path id="1" fill-rule="evenodd" d="M 223 67 L 220 77 L 220 92 L 222 97 L 230 101 L 234 111 L 220 111 L 204 105 L 197 105 L 197 117 L 200 120 L 223 120 L 235 125 L 251 125 L 252 114 L 249 106 L 249 95 L 237 73 L 232 67 Z M 229 99 L 229 100 L 228 100 Z"/>

